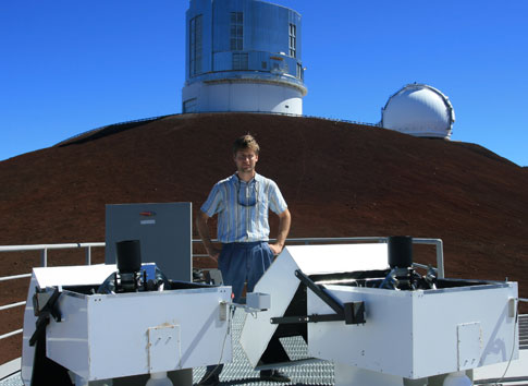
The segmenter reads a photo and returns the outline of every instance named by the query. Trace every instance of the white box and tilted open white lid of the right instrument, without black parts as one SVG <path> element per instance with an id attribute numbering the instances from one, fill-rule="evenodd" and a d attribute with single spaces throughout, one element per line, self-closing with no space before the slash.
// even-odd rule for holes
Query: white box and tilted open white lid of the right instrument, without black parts
<path id="1" fill-rule="evenodd" d="M 386 268 L 386 244 L 286 246 L 255 287 L 271 293 L 273 301 L 270 310 L 246 317 L 241 343 L 249 362 L 259 365 L 278 331 L 279 324 L 270 322 L 291 310 L 300 285 L 297 270 L 309 277 Z M 518 358 L 516 282 L 439 279 L 439 284 L 442 288 L 426 290 L 321 285 L 343 304 L 364 302 L 366 323 L 307 323 L 307 360 L 333 361 L 335 385 L 402 385 L 404 379 Z M 309 288 L 305 312 L 335 313 Z"/>

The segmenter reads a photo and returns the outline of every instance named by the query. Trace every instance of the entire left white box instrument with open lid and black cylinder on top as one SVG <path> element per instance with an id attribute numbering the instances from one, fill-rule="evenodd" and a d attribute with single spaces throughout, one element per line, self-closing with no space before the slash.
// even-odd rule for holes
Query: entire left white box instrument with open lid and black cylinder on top
<path id="1" fill-rule="evenodd" d="M 34 268 L 24 314 L 22 379 L 111 385 L 231 361 L 231 287 L 172 281 L 142 264 L 137 240 L 116 265 Z M 108 381 L 108 383 L 106 382 Z"/>

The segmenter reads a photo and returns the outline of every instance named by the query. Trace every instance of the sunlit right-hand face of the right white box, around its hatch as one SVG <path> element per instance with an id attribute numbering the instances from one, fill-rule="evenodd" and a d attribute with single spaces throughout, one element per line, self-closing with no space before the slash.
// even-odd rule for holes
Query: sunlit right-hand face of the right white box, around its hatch
<path id="1" fill-rule="evenodd" d="M 514 317 L 508 317 L 508 298 L 517 297 L 517 284 L 474 286 L 445 290 L 419 291 L 415 294 L 414 339 L 415 369 L 419 374 L 458 371 L 458 325 L 480 325 L 481 354 L 478 366 L 518 358 L 518 338 Z M 434 347 L 430 350 L 425 341 Z M 512 349 L 515 349 L 512 351 Z"/>

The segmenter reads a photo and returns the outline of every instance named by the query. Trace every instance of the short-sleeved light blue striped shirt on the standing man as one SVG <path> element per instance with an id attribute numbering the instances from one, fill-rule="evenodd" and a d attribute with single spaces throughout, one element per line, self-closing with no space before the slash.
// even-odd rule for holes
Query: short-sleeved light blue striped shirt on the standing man
<path id="1" fill-rule="evenodd" d="M 248 182 L 236 173 L 219 181 L 201 205 L 209 217 L 218 214 L 218 240 L 222 243 L 268 241 L 269 210 L 280 215 L 286 208 L 277 183 L 258 173 Z"/>

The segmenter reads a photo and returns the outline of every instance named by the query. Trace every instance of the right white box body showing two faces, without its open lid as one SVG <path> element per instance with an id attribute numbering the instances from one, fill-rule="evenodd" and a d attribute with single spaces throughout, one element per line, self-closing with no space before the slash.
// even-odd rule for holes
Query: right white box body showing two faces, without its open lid
<path id="1" fill-rule="evenodd" d="M 367 323 L 308 324 L 315 358 L 416 379 L 518 358 L 516 282 L 393 291 L 327 286 L 342 302 L 365 302 Z M 308 314 L 332 313 L 308 291 Z M 515 336 L 515 340 L 514 340 Z"/>

